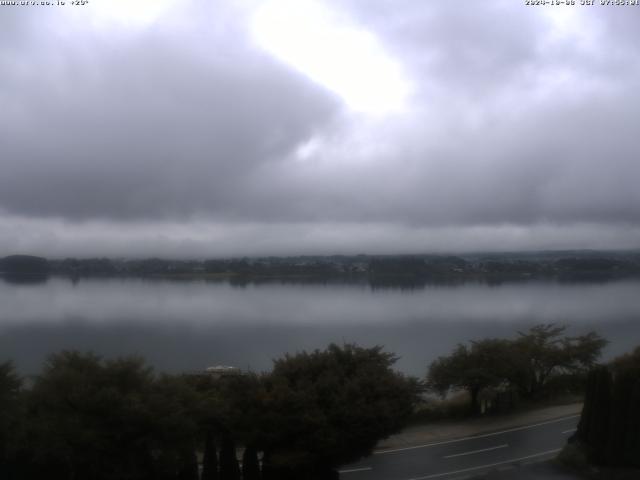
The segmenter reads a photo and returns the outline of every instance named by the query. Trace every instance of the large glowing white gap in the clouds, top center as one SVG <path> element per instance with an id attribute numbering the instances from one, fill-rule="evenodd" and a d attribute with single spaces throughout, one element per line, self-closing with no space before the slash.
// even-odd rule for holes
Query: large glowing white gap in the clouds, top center
<path id="1" fill-rule="evenodd" d="M 356 111 L 402 110 L 409 94 L 399 65 L 370 32 L 313 0 L 269 0 L 254 14 L 262 48 L 338 94 Z"/>

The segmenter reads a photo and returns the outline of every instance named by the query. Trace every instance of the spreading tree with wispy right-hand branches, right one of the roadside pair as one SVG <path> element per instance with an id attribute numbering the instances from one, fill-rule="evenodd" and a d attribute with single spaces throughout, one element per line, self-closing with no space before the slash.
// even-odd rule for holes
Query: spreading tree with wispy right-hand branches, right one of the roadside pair
<path id="1" fill-rule="evenodd" d="M 513 342 L 517 367 L 512 382 L 526 397 L 535 397 L 557 373 L 586 373 L 608 343 L 595 332 L 578 337 L 563 336 L 567 327 L 541 324 L 519 333 Z"/>

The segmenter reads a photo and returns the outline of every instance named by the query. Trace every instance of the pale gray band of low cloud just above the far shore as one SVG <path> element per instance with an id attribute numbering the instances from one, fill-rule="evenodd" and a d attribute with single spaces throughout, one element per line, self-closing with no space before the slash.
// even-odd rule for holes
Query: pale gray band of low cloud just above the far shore
<path id="1" fill-rule="evenodd" d="M 635 248 L 640 227 L 572 223 L 419 227 L 396 222 L 0 220 L 0 252 L 66 256 L 207 256 Z"/>

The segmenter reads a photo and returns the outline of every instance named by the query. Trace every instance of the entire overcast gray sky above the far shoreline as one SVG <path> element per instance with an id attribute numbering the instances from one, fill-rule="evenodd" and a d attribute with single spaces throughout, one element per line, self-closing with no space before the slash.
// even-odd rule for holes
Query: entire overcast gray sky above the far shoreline
<path id="1" fill-rule="evenodd" d="M 0 6 L 0 255 L 638 248 L 639 25 L 517 0 Z"/>

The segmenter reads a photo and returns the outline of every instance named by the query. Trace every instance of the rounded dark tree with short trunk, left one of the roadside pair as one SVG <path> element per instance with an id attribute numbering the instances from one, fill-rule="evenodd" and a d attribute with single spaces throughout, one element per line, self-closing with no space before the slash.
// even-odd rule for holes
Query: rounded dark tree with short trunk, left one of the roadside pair
<path id="1" fill-rule="evenodd" d="M 469 392 L 472 413 L 480 412 L 479 395 L 507 381 L 512 372 L 512 348 L 507 340 L 485 339 L 459 344 L 449 356 L 433 361 L 427 385 L 441 395 L 452 389 Z"/>

